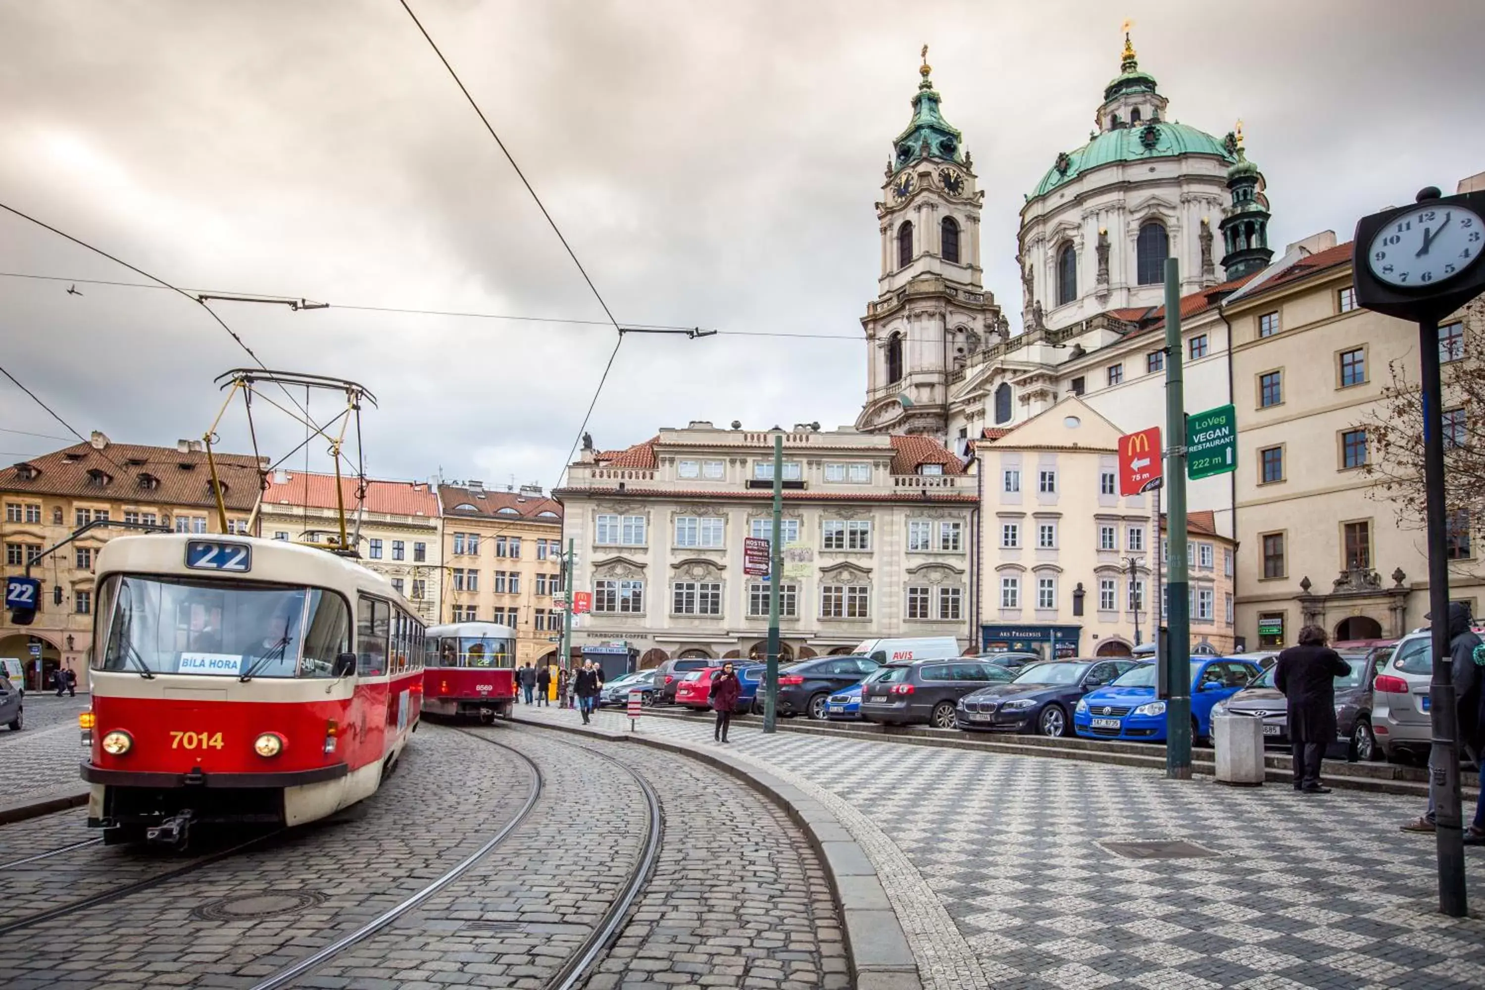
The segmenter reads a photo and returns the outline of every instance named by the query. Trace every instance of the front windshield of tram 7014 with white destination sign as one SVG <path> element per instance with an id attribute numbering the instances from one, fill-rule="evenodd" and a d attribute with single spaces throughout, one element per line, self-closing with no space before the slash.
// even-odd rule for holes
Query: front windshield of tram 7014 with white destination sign
<path id="1" fill-rule="evenodd" d="M 318 588 L 111 576 L 94 665 L 105 671 L 230 677 L 331 677 L 350 616 Z"/>

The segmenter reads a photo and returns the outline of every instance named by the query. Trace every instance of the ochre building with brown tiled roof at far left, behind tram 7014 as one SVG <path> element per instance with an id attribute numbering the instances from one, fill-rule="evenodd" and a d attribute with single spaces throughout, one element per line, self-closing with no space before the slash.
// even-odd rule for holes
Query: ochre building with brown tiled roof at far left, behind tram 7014
<path id="1" fill-rule="evenodd" d="M 247 533 L 258 500 L 260 462 L 215 454 L 227 525 Z M 25 563 L 95 521 L 163 525 L 175 533 L 221 533 L 211 471 L 200 441 L 175 447 L 114 444 L 94 432 L 74 444 L 0 471 L 0 543 L 3 574 L 24 574 Z M 94 623 L 94 564 L 125 527 L 95 527 L 55 554 L 40 558 L 31 576 L 42 580 L 42 607 L 28 626 L 0 613 L 0 656 L 25 665 L 27 686 L 49 686 L 50 674 L 70 668 L 86 687 L 86 650 Z"/>

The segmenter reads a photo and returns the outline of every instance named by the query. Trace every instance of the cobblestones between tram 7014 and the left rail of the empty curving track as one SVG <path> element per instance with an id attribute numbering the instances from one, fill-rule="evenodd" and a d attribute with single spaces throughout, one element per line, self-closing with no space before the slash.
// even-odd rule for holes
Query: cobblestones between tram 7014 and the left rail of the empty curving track
<path id="1" fill-rule="evenodd" d="M 251 986 L 364 925 L 477 849 L 524 800 L 527 775 L 512 754 L 425 723 L 401 769 L 342 818 L 293 830 L 45 931 L 7 937 L 0 986 Z M 52 818 L 74 815 L 82 812 Z M 0 828 L 0 836 L 16 827 Z M 4 882 L 34 885 L 27 907 L 36 910 L 162 864 L 178 861 L 137 848 L 89 846 L 7 870 Z"/>

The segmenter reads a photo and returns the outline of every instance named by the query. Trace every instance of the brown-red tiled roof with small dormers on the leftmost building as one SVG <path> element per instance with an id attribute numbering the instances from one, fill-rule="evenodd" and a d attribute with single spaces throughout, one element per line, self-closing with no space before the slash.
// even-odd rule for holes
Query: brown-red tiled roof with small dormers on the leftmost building
<path id="1" fill-rule="evenodd" d="M 101 448 L 74 444 L 6 468 L 0 471 L 0 488 L 99 502 L 215 508 L 205 451 L 113 444 L 101 435 L 98 442 Z M 258 462 L 247 454 L 214 453 L 212 457 L 223 502 L 235 512 L 252 511 L 258 500 Z M 31 479 L 22 478 L 27 465 L 36 471 Z"/>

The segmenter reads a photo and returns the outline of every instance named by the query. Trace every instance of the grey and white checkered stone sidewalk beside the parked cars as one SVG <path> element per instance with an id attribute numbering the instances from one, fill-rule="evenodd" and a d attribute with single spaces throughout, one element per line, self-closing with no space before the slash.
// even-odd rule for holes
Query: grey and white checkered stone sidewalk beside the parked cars
<path id="1" fill-rule="evenodd" d="M 551 721 L 570 712 L 523 712 Z M 625 729 L 619 714 L 597 724 Z M 713 745 L 710 726 L 642 732 Z M 925 987 L 1485 986 L 1485 923 L 1437 914 L 1405 797 L 734 726 L 731 754 L 812 794 L 879 870 Z M 1215 855 L 1126 859 L 1109 840 Z M 1476 902 L 1485 853 L 1467 850 Z"/>

